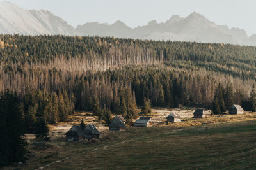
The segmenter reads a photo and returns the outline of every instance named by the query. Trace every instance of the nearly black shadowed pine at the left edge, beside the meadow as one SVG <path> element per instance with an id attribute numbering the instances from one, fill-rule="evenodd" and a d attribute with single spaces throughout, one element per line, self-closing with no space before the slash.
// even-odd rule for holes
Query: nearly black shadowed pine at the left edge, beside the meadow
<path id="1" fill-rule="evenodd" d="M 20 101 L 17 94 L 0 95 L 0 167 L 24 161 L 24 139 Z"/>

